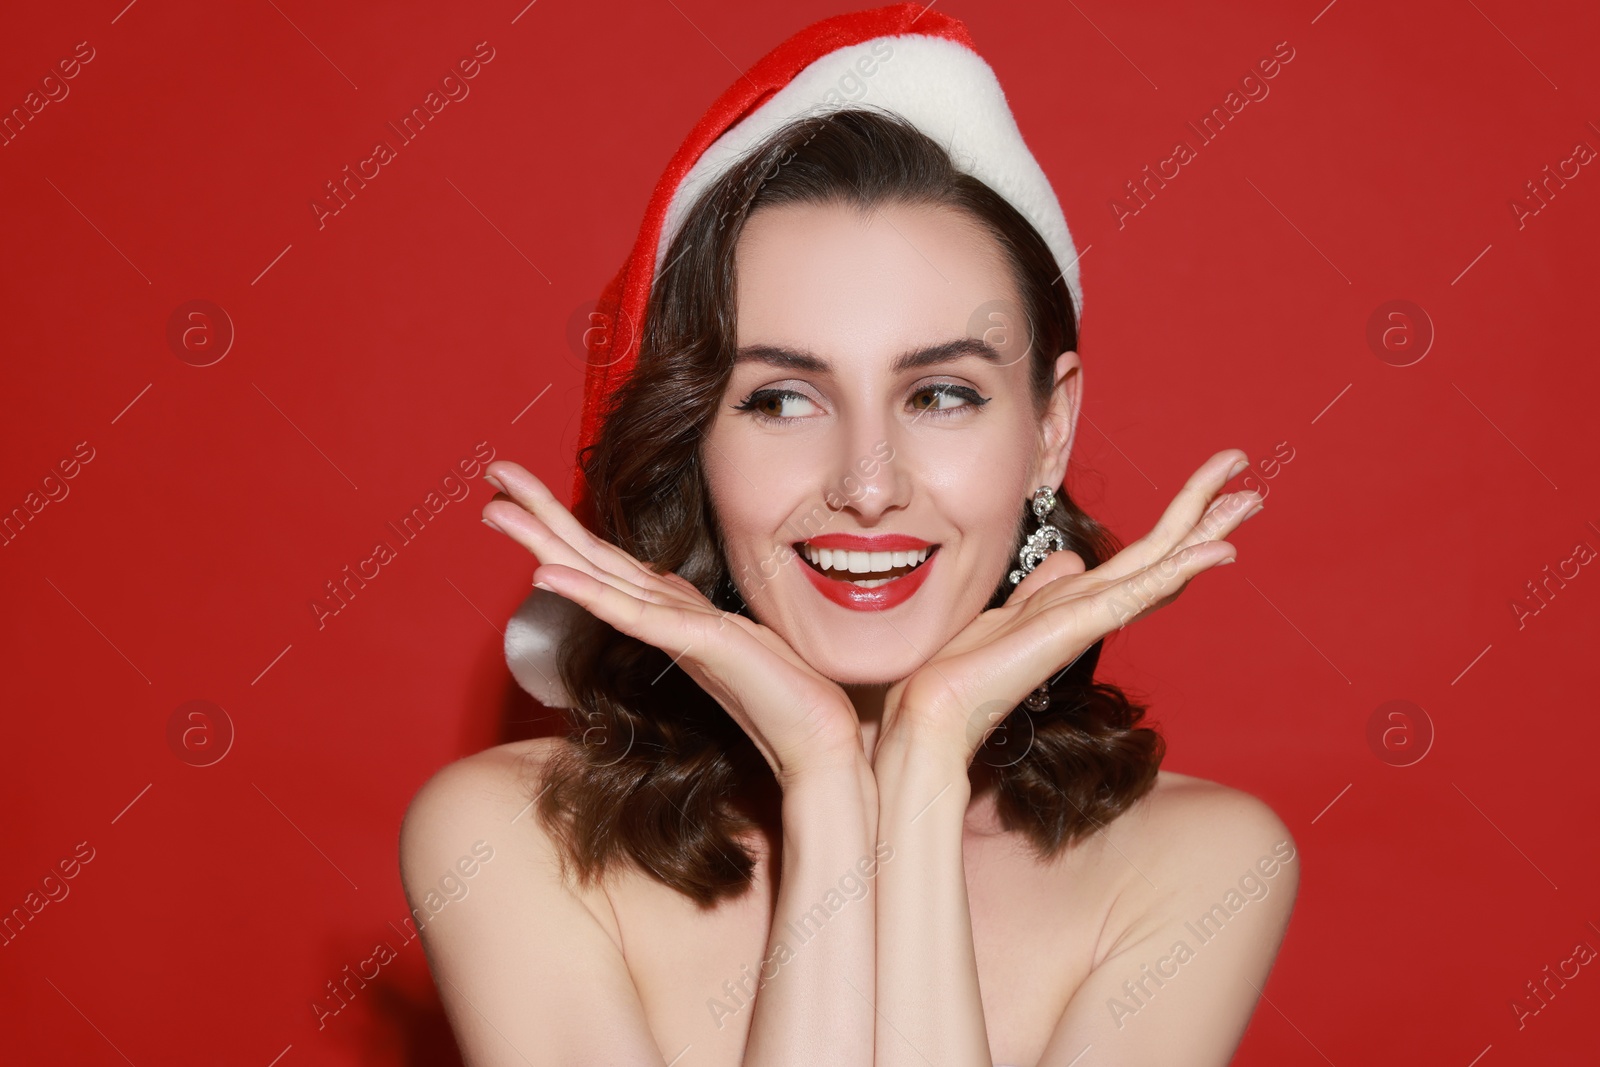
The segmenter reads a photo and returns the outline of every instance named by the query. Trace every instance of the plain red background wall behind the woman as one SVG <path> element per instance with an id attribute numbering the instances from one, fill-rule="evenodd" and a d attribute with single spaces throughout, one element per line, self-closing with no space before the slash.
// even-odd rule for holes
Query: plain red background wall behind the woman
<path id="1" fill-rule="evenodd" d="M 472 480 L 325 625 L 310 605 L 480 442 L 566 491 L 574 315 L 701 110 L 840 10 L 523 2 L 8 18 L 6 110 L 94 50 L 0 147 L 0 509 L 93 448 L 0 547 L 0 909 L 94 849 L 0 949 L 8 1059 L 453 1056 L 414 941 L 322 1030 L 310 1003 L 398 942 L 418 785 L 542 729 L 501 651 L 531 560 L 478 523 Z M 1522 227 L 1509 205 L 1600 147 L 1600 10 L 1323 2 L 939 10 L 1083 250 L 1080 502 L 1131 541 L 1211 453 L 1293 450 L 1258 472 L 1240 565 L 1104 661 L 1171 769 L 1262 797 L 1301 845 L 1237 1062 L 1571 1062 L 1600 965 L 1523 1029 L 1510 1001 L 1600 947 L 1600 576 L 1552 582 L 1523 625 L 1512 603 L 1600 547 L 1600 168 Z M 318 229 L 323 182 L 478 42 L 470 96 Z M 1118 227 L 1123 182 L 1278 42 L 1270 96 Z M 166 339 L 192 299 L 237 334 L 210 366 Z M 1410 366 L 1366 341 L 1392 299 L 1435 333 Z M 203 768 L 168 742 L 195 699 L 235 729 Z M 1411 766 L 1368 742 L 1392 699 L 1432 723 Z"/>

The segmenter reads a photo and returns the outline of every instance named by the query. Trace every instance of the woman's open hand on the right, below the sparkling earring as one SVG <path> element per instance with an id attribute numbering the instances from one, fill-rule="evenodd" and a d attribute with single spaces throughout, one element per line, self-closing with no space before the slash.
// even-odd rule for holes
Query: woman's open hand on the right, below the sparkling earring
<path id="1" fill-rule="evenodd" d="M 979 614 L 890 688 L 878 750 L 890 739 L 914 739 L 965 768 L 1040 683 L 1112 630 L 1171 603 L 1195 574 L 1232 563 L 1237 552 L 1219 537 L 1261 504 L 1258 493 L 1216 499 L 1242 462 L 1238 450 L 1211 456 L 1150 533 L 1093 571 L 1077 552 L 1045 557 L 1002 606 Z"/>

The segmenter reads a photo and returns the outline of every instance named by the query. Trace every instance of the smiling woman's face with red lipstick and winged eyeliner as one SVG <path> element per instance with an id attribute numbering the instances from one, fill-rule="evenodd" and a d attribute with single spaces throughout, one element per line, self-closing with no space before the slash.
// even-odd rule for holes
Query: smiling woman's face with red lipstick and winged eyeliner
<path id="1" fill-rule="evenodd" d="M 736 269 L 738 358 L 701 448 L 728 568 L 822 675 L 896 681 L 1016 566 L 1029 496 L 1066 472 L 1077 354 L 1042 424 L 1003 253 L 950 208 L 763 208 Z"/>

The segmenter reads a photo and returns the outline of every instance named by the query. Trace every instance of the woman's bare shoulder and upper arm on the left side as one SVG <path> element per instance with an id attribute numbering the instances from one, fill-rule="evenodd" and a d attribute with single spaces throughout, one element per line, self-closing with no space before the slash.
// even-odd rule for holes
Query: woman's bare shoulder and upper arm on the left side
<path id="1" fill-rule="evenodd" d="M 562 739 L 456 760 L 411 798 L 400 875 L 462 1062 L 659 1064 L 602 893 L 565 885 L 533 811 Z"/>

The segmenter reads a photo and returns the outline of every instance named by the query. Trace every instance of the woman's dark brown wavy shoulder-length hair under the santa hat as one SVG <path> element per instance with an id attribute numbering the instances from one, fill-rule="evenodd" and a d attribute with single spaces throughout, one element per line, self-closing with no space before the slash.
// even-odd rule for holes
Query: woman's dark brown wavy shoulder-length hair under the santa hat
<path id="1" fill-rule="evenodd" d="M 795 203 L 942 205 L 982 224 L 1022 296 L 1040 419 L 1054 357 L 1078 344 L 1072 298 L 1038 232 L 909 122 L 846 109 L 770 134 L 702 192 L 670 242 L 637 365 L 579 456 L 600 536 L 747 616 L 699 445 L 733 368 L 739 234 L 750 213 Z M 1050 522 L 1088 568 L 1122 547 L 1064 490 Z M 1024 504 L 1013 555 L 1032 525 Z M 1002 579 L 986 609 L 1005 603 L 1010 589 Z M 1093 645 L 1048 683 L 1046 710 L 1019 707 L 978 753 L 995 768 L 1002 824 L 1024 833 L 1040 859 L 1126 811 L 1154 785 L 1165 752 L 1160 734 L 1139 725 L 1146 709 L 1094 681 L 1099 653 L 1101 643 Z M 573 701 L 571 744 L 546 761 L 538 811 L 568 877 L 594 885 L 613 865 L 632 864 L 702 907 L 741 894 L 755 867 L 741 843 L 758 825 L 752 800 L 776 789 L 754 742 L 667 653 L 587 613 L 563 641 L 558 665 Z M 1008 755 L 1024 744 L 1021 758 Z"/>

